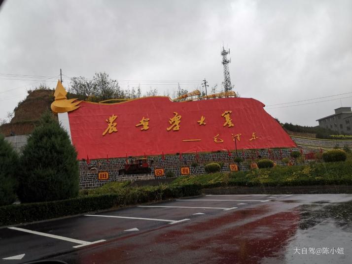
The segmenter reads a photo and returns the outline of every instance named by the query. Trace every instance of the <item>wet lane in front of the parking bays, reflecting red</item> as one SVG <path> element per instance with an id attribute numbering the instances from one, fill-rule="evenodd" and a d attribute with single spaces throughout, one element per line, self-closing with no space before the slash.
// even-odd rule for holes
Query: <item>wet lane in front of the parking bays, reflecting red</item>
<path id="1" fill-rule="evenodd" d="M 110 239 L 55 259 L 70 264 L 351 264 L 351 231 L 351 195 L 294 195 Z"/>

